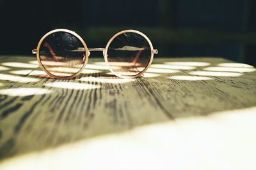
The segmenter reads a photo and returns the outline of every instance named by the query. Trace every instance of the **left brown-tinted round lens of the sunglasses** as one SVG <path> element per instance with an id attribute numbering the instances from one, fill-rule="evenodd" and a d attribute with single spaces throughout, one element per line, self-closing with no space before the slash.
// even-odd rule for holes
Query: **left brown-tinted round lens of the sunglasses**
<path id="1" fill-rule="evenodd" d="M 54 76 L 68 77 L 84 65 L 86 52 L 79 38 L 68 32 L 53 32 L 40 45 L 43 67 Z"/>

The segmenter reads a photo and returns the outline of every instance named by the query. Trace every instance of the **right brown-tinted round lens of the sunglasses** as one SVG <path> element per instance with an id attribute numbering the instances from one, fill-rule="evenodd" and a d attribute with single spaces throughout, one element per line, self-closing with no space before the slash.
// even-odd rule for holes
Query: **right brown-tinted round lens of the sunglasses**
<path id="1" fill-rule="evenodd" d="M 116 36 L 107 51 L 108 65 L 118 75 L 136 76 L 150 63 L 152 49 L 144 36 L 125 32 Z"/>

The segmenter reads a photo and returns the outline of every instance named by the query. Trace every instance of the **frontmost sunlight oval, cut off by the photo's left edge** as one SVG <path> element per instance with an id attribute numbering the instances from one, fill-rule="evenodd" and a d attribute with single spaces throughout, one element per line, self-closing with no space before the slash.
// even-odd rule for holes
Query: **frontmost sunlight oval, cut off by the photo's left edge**
<path id="1" fill-rule="evenodd" d="M 52 92 L 52 90 L 48 90 L 48 89 L 27 88 L 27 87 L 0 90 L 0 94 L 5 94 L 5 95 L 8 95 L 8 96 L 42 95 L 42 94 L 49 94 L 51 92 Z"/>

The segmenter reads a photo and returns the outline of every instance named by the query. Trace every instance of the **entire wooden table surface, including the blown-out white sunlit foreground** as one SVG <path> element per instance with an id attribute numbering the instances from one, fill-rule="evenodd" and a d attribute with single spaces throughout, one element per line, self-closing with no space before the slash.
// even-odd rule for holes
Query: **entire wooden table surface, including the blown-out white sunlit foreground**
<path id="1" fill-rule="evenodd" d="M 154 59 L 120 79 L 89 59 L 55 80 L 35 57 L 0 57 L 0 169 L 255 169 L 256 69 Z M 79 166 L 77 166 L 79 165 Z"/>

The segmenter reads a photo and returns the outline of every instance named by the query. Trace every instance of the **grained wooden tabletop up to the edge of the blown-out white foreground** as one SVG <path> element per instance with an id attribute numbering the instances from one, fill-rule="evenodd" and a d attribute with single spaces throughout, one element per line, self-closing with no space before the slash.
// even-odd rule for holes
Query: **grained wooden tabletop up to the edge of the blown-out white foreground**
<path id="1" fill-rule="evenodd" d="M 145 124 L 256 106 L 254 68 L 220 65 L 229 60 L 154 59 L 145 77 L 132 80 L 108 74 L 101 62 L 89 59 L 88 73 L 54 80 L 36 67 L 35 57 L 0 57 L 0 159 Z"/>

